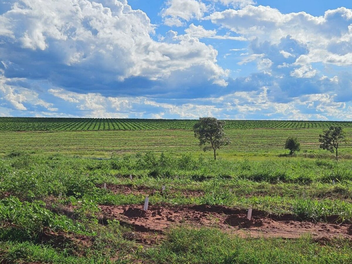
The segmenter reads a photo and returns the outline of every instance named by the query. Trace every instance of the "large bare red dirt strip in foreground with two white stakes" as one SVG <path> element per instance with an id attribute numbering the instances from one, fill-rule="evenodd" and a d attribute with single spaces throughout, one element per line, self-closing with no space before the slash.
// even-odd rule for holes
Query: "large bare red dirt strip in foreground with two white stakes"
<path id="1" fill-rule="evenodd" d="M 217 227 L 227 233 L 246 237 L 298 238 L 310 233 L 314 239 L 329 240 L 335 237 L 352 240 L 350 224 L 298 221 L 293 215 L 269 217 L 253 210 L 252 219 L 247 212 L 222 206 L 100 206 L 102 219 L 118 219 L 121 224 L 134 227 L 137 232 L 164 233 L 170 227 L 186 225 L 196 228 Z"/>

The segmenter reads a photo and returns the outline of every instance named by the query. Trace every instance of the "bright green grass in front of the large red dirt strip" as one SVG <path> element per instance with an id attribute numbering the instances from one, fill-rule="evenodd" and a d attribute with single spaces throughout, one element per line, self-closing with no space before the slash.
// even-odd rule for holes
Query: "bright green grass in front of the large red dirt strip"
<path id="1" fill-rule="evenodd" d="M 218 230 L 176 229 L 167 239 L 144 253 L 155 263 L 351 263 L 352 248 L 346 241 L 321 246 L 311 238 L 243 239 Z"/>

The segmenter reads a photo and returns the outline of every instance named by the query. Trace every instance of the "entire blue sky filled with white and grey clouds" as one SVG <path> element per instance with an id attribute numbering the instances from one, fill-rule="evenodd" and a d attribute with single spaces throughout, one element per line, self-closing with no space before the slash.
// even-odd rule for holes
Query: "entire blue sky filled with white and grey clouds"
<path id="1" fill-rule="evenodd" d="M 0 116 L 352 119 L 351 0 L 2 0 Z"/>

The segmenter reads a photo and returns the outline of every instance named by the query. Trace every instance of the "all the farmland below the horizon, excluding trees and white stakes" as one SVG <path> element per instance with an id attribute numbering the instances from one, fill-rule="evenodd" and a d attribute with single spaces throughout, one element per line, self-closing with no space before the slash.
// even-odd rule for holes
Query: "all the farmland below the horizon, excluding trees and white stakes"
<path id="1" fill-rule="evenodd" d="M 195 120 L 0 120 L 0 263 L 352 263 L 351 122 L 228 120 L 214 160 Z"/>

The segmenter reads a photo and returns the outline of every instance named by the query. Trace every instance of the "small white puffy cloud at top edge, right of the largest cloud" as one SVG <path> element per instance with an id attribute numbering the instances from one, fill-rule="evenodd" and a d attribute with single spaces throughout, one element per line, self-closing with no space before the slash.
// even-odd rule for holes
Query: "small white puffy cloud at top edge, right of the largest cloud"
<path id="1" fill-rule="evenodd" d="M 200 20 L 209 8 L 198 0 L 168 0 L 161 15 L 165 25 L 179 27 L 185 25 L 183 21 Z"/>

